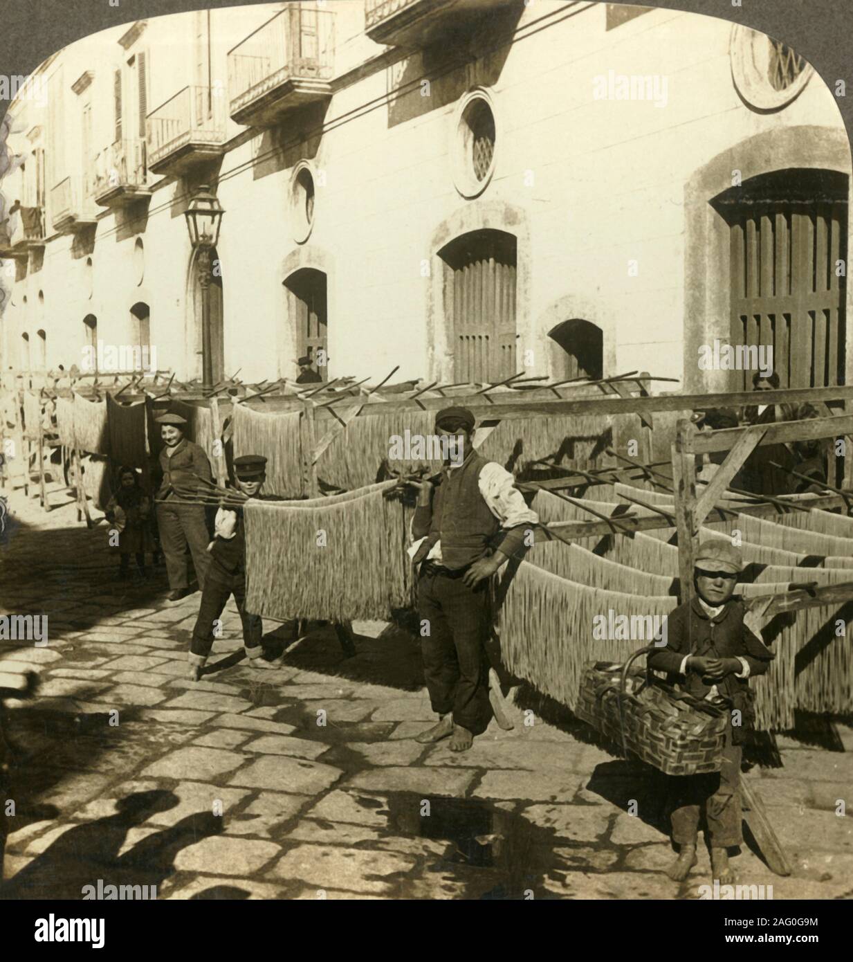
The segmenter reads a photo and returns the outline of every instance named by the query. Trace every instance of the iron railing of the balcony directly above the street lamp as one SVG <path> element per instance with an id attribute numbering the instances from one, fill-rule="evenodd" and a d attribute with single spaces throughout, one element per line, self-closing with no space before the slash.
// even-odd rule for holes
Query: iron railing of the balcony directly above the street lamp
<path id="1" fill-rule="evenodd" d="M 223 143 L 224 99 L 211 87 L 185 87 L 148 114 L 148 166 L 154 167 L 188 144 Z"/>

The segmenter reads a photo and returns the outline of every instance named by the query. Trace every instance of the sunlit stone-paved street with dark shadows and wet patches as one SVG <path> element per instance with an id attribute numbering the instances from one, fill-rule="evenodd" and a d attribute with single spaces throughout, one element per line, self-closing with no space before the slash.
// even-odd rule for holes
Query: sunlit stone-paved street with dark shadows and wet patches
<path id="1" fill-rule="evenodd" d="M 284 654 L 255 671 L 233 602 L 193 684 L 200 595 L 166 603 L 163 569 L 118 581 L 105 525 L 88 530 L 73 504 L 45 514 L 16 492 L 10 512 L 0 602 L 49 617 L 46 646 L 0 648 L 0 686 L 41 680 L 9 704 L 12 898 L 79 899 L 102 879 L 159 899 L 690 899 L 709 881 L 704 850 L 687 884 L 665 876 L 648 770 L 543 721 L 522 690 L 514 730 L 492 722 L 462 754 L 420 746 L 433 714 L 413 638 L 356 622 L 345 658 L 331 627 L 294 645 L 265 624 Z M 794 873 L 743 847 L 740 883 L 853 895 L 853 819 L 837 814 L 853 801 L 853 729 L 838 730 L 846 752 L 778 736 L 782 767 L 750 773 Z"/>

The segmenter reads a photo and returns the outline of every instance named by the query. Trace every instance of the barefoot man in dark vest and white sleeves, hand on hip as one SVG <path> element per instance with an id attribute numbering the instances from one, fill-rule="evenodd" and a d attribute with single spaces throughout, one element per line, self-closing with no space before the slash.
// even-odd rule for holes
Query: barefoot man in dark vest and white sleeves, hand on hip
<path id="1" fill-rule="evenodd" d="M 513 475 L 474 450 L 474 416 L 445 408 L 436 417 L 444 468 L 418 488 L 410 549 L 417 577 L 423 671 L 439 723 L 420 743 L 450 738 L 471 747 L 491 718 L 487 589 L 489 577 L 524 544 L 539 520 L 514 488 Z M 502 536 L 502 537 L 501 537 Z"/>

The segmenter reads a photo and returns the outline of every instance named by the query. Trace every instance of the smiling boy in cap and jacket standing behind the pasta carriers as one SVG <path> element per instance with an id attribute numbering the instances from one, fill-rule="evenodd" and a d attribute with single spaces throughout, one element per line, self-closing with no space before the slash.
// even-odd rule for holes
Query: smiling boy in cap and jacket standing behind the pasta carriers
<path id="1" fill-rule="evenodd" d="M 210 565 L 204 505 L 182 502 L 204 491 L 206 486 L 199 481 L 199 477 L 211 481 L 213 472 L 204 450 L 184 437 L 187 430 L 185 418 L 166 414 L 157 418 L 157 423 L 161 426 L 160 435 L 163 438 L 163 450 L 160 452 L 163 482 L 156 495 L 157 526 L 169 588 L 172 590 L 168 600 L 179 601 L 189 594 L 187 544 L 201 589 L 204 589 L 205 574 Z"/>

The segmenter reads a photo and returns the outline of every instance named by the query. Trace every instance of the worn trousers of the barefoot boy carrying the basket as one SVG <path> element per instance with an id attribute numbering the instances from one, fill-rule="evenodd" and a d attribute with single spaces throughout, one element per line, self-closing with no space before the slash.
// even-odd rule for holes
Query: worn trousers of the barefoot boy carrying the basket
<path id="1" fill-rule="evenodd" d="M 715 848 L 732 848 L 743 842 L 740 814 L 740 745 L 732 744 L 731 723 L 726 727 L 722 768 L 707 775 L 670 779 L 672 841 L 695 845 L 699 819 L 705 821 Z"/>

